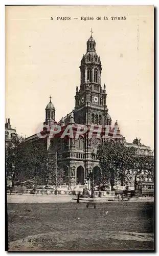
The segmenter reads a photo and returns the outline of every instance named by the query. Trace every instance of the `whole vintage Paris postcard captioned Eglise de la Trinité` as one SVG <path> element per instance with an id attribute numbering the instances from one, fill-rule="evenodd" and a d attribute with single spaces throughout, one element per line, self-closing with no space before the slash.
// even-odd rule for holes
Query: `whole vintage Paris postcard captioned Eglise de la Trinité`
<path id="1" fill-rule="evenodd" d="M 6 6 L 6 250 L 154 250 L 154 7 Z"/>

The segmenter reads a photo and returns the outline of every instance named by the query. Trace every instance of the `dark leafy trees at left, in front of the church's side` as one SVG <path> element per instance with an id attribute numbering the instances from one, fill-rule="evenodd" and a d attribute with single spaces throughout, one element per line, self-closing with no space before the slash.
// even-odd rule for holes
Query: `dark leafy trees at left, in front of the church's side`
<path id="1" fill-rule="evenodd" d="M 10 148 L 6 157 L 7 177 L 15 181 L 28 181 L 39 185 L 56 183 L 62 184 L 64 171 L 57 166 L 55 153 L 51 156 L 46 149 L 44 141 L 30 143 L 21 141 L 16 143 L 14 148 Z"/>

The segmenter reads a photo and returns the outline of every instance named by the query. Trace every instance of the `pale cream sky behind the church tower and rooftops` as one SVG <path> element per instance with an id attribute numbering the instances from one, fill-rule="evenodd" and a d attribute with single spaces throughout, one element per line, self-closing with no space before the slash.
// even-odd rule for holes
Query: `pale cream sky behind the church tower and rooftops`
<path id="1" fill-rule="evenodd" d="M 138 137 L 153 150 L 152 6 L 6 7 L 6 118 L 18 134 L 28 137 L 44 122 L 50 95 L 56 121 L 74 109 L 90 28 L 102 62 L 101 83 L 106 84 L 112 123 L 118 120 L 127 142 Z"/>

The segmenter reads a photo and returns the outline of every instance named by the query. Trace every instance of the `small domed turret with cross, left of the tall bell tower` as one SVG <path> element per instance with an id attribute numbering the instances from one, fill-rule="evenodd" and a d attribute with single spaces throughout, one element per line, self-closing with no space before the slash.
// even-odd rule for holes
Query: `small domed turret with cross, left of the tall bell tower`
<path id="1" fill-rule="evenodd" d="M 46 106 L 46 122 L 45 123 L 51 126 L 55 124 L 55 106 L 51 102 L 52 97 L 50 96 L 49 98 L 50 98 L 50 102 Z"/>

